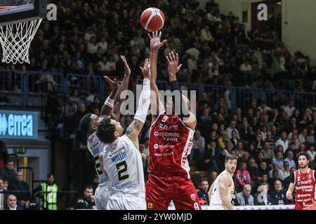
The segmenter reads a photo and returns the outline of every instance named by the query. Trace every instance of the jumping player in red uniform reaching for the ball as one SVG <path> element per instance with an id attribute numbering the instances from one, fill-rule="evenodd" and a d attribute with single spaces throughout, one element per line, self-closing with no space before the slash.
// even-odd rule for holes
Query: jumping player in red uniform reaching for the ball
<path id="1" fill-rule="evenodd" d="M 149 139 L 149 176 L 146 184 L 147 209 L 166 210 L 173 200 L 176 209 L 200 210 L 199 198 L 190 180 L 190 167 L 187 162 L 197 120 L 193 113 L 188 112 L 189 100 L 181 94 L 180 102 L 183 104 L 184 111 L 179 115 L 166 113 L 169 108 L 173 108 L 171 111 L 176 111 L 172 99 L 168 100 L 166 111 L 159 100 L 156 85 L 157 55 L 159 48 L 166 42 L 160 42 L 161 35 L 161 32 L 159 36 L 156 32 L 150 36 L 151 90 L 154 91 L 152 92 L 154 97 L 151 99 L 152 126 Z M 176 73 L 181 66 L 178 66 L 178 55 L 172 52 L 169 54 L 168 61 L 171 90 L 180 90 L 176 80 Z M 188 117 L 185 118 L 185 115 Z"/>

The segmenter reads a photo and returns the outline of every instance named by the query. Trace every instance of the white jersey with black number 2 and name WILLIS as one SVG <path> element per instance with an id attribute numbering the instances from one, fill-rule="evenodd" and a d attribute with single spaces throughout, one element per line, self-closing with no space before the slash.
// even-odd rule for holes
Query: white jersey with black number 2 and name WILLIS
<path id="1" fill-rule="evenodd" d="M 110 177 L 111 196 L 145 197 L 142 156 L 125 134 L 105 146 L 103 168 Z"/>

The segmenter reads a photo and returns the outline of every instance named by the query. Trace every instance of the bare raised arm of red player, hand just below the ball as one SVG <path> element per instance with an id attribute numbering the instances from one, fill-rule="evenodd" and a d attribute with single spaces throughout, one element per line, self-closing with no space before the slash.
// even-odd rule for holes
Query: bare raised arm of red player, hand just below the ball
<path id="1" fill-rule="evenodd" d="M 161 113 L 164 110 L 164 105 L 159 100 L 159 90 L 156 85 L 157 80 L 157 58 L 158 58 L 158 51 L 164 43 L 166 43 L 166 40 L 160 42 L 160 38 L 162 37 L 162 32 L 158 31 L 152 32 L 152 36 L 148 34 L 150 38 L 150 71 L 151 71 L 151 77 L 150 77 L 150 89 L 153 91 L 152 97 L 150 99 L 151 104 L 151 112 L 152 112 L 152 123 L 154 120 L 156 120 L 159 113 Z"/>

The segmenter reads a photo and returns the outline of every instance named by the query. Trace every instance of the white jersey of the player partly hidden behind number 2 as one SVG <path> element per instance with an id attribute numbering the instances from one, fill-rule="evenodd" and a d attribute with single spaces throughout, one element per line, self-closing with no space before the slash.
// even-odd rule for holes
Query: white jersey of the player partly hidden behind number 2
<path id="1" fill-rule="evenodd" d="M 99 153 L 103 152 L 103 148 L 107 146 L 107 144 L 104 144 L 100 139 L 96 136 L 96 132 L 93 132 L 87 140 L 87 147 L 90 151 L 91 155 L 93 156 L 93 162 L 96 167 L 96 173 L 98 174 L 99 179 L 99 185 L 100 186 L 106 186 L 108 185 L 109 176 L 106 176 L 103 174 L 100 161 L 99 161 Z"/>

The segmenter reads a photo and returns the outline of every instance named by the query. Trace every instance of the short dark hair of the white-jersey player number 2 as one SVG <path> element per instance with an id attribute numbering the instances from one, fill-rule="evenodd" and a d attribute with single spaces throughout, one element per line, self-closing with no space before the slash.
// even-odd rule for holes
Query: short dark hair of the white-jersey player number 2
<path id="1" fill-rule="evenodd" d="M 115 125 L 111 124 L 110 118 L 105 118 L 98 125 L 98 129 L 96 131 L 96 136 L 105 144 L 110 144 L 115 140 L 114 132 Z"/>

